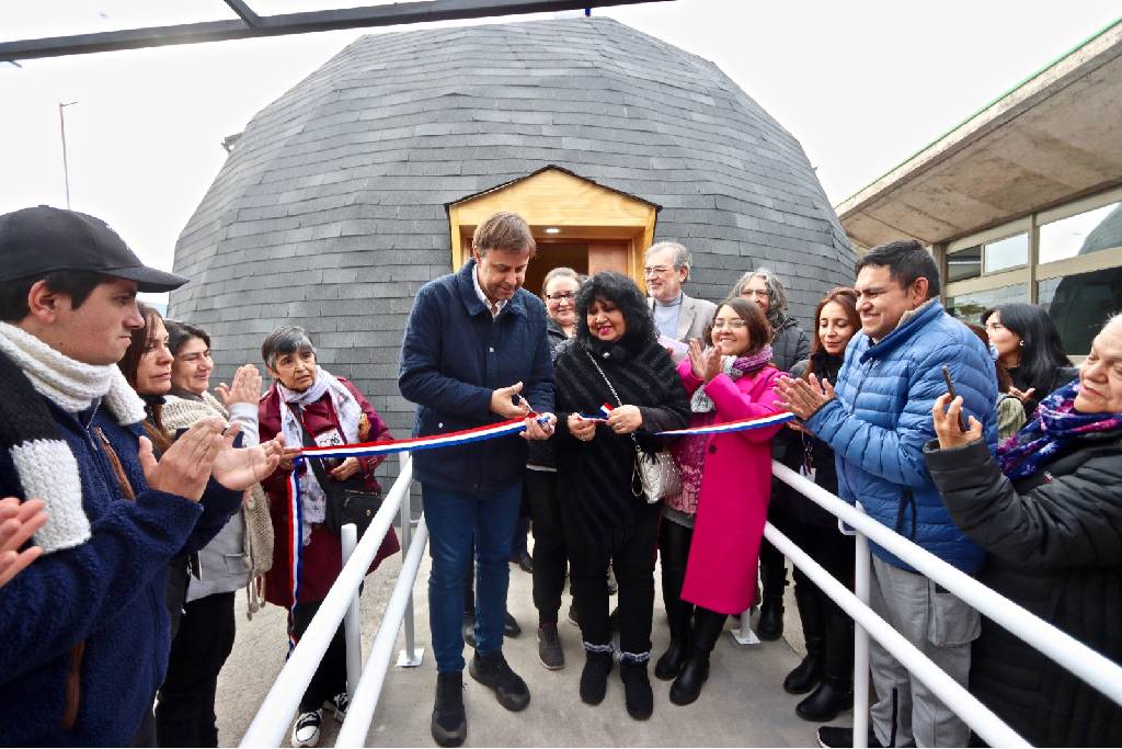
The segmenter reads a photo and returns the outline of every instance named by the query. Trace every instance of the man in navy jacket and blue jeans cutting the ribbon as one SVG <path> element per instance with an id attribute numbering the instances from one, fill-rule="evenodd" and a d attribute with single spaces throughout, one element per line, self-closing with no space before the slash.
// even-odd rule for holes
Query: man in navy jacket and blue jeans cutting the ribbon
<path id="1" fill-rule="evenodd" d="M 417 292 L 405 327 L 398 386 L 417 404 L 413 435 L 424 437 L 525 419 L 523 437 L 553 433 L 553 364 L 545 307 L 522 289 L 535 252 L 530 227 L 514 213 L 479 225 L 471 259 Z M 543 417 L 532 418 L 531 412 Z M 429 523 L 432 573 L 429 625 L 436 657 L 432 736 L 463 743 L 463 584 L 472 536 L 479 566 L 476 654 L 469 673 L 495 691 L 507 710 L 530 703 L 530 691 L 503 657 L 503 620 L 511 546 L 522 502 L 526 444 L 518 437 L 417 451 Z"/>

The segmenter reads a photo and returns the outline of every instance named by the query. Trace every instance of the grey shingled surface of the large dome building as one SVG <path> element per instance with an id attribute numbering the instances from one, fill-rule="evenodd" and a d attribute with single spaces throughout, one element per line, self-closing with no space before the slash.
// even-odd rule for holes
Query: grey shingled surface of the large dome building
<path id="1" fill-rule="evenodd" d="M 687 292 L 785 281 L 803 327 L 853 250 L 798 140 L 714 64 L 606 18 L 366 36 L 261 110 L 184 228 L 173 317 L 219 374 L 302 325 L 394 430 L 417 289 L 452 271 L 445 205 L 557 165 L 661 207 Z M 533 290 L 536 291 L 536 290 Z"/>

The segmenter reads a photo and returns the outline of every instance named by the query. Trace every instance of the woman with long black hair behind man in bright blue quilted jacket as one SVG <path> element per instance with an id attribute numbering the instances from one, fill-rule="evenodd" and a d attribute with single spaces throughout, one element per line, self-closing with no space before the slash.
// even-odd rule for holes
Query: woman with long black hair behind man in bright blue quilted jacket
<path id="1" fill-rule="evenodd" d="M 1010 394 L 1020 399 L 1029 418 L 1040 399 L 1078 375 L 1042 307 L 1001 304 L 982 313 L 982 325 L 990 337 L 990 353 L 1013 380 Z"/>

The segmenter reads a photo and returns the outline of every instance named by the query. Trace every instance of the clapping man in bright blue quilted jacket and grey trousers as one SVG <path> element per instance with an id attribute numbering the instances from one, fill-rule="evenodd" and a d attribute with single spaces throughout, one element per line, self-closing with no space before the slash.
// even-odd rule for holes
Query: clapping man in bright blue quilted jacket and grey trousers
<path id="1" fill-rule="evenodd" d="M 862 331 L 846 349 L 837 390 L 785 381 L 791 410 L 834 448 L 838 494 L 901 536 L 974 573 L 983 550 L 958 530 L 931 483 L 923 444 L 948 367 L 964 410 L 996 444 L 994 365 L 978 338 L 939 303 L 939 271 L 917 241 L 894 241 L 857 263 Z M 937 666 L 966 686 L 978 613 L 872 545 L 871 605 Z M 870 643 L 877 701 L 870 746 L 963 747 L 969 729 L 884 648 Z M 819 729 L 822 746 L 853 746 L 852 729 Z"/>

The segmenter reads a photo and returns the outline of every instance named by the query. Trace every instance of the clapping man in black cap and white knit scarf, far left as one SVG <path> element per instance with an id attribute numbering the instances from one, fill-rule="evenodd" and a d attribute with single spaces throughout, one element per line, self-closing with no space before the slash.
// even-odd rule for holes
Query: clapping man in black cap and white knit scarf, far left
<path id="1" fill-rule="evenodd" d="M 186 281 L 93 217 L 0 216 L 0 497 L 39 497 L 48 518 L 43 556 L 0 593 L 4 745 L 154 740 L 168 560 L 217 533 L 280 457 L 279 442 L 230 449 L 218 420 L 159 460 L 141 437 L 144 403 L 116 365 L 144 327 L 137 292 Z"/>

